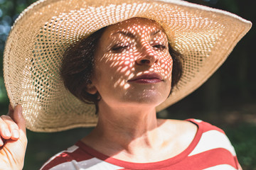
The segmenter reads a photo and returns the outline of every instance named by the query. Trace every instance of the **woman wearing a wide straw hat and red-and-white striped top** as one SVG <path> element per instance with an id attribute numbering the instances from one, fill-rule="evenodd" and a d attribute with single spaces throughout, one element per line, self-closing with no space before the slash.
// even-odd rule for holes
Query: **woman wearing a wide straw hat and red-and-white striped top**
<path id="1" fill-rule="evenodd" d="M 33 25 L 24 24 L 28 19 Z M 65 130 L 97 120 L 90 135 L 42 169 L 240 169 L 222 130 L 201 120 L 158 120 L 156 108 L 206 81 L 249 28 L 238 16 L 183 1 L 41 1 L 9 35 L 6 89 L 13 96 L 18 86 L 9 77 L 23 80 L 23 94 L 14 95 L 21 99 L 10 101 L 22 104 L 31 130 Z M 21 61 L 12 64 L 11 56 Z M 18 78 L 10 68 L 22 70 Z M 9 115 L 1 118 L 1 167 L 21 169 L 21 106 L 10 107 Z"/>

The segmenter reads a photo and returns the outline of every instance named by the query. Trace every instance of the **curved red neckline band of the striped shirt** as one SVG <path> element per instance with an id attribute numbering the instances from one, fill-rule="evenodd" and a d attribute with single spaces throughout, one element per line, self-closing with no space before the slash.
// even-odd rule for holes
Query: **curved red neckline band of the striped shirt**
<path id="1" fill-rule="evenodd" d="M 180 154 L 177 154 L 175 157 L 171 157 L 169 159 L 165 159 L 159 162 L 151 162 L 151 163 L 126 162 L 126 161 L 115 159 L 105 154 L 102 154 L 97 150 L 93 149 L 92 147 L 85 145 L 85 143 L 83 143 L 82 141 L 78 141 L 75 145 L 80 147 L 83 151 L 87 152 L 87 154 L 90 154 L 92 157 L 96 157 L 97 159 L 101 159 L 102 161 L 108 162 L 110 164 L 121 166 L 125 169 L 161 169 L 167 166 L 171 166 L 172 164 L 181 162 L 183 159 L 188 157 L 188 154 L 190 154 L 193 151 L 193 149 L 196 147 L 196 145 L 198 145 L 198 142 L 203 134 L 203 128 L 201 126 L 201 123 L 198 123 L 194 119 L 187 119 L 186 121 L 194 123 L 195 125 L 198 126 L 198 130 L 191 144 L 188 145 L 188 147 L 184 149 L 183 152 L 181 152 Z"/>

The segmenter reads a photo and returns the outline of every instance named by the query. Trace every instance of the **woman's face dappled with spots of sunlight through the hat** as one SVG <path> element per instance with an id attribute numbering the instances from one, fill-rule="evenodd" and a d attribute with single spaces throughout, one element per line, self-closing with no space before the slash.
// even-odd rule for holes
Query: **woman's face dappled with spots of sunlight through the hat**
<path id="1" fill-rule="evenodd" d="M 157 23 L 123 21 L 102 36 L 96 57 L 96 64 L 105 68 L 101 79 L 109 77 L 113 88 L 120 91 L 135 89 L 144 95 L 156 91 L 168 96 L 173 61 L 166 34 Z"/>

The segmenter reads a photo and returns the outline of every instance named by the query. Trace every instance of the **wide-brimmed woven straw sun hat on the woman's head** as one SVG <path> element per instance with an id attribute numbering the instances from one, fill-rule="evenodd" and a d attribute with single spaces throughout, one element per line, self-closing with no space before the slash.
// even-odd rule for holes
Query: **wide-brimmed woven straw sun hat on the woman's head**
<path id="1" fill-rule="evenodd" d="M 95 106 L 63 86 L 63 52 L 102 27 L 128 18 L 159 23 L 184 56 L 183 76 L 157 111 L 201 86 L 225 61 L 251 23 L 233 13 L 179 0 L 40 0 L 14 23 L 4 50 L 12 106 L 20 103 L 29 130 L 55 132 L 97 123 Z"/>

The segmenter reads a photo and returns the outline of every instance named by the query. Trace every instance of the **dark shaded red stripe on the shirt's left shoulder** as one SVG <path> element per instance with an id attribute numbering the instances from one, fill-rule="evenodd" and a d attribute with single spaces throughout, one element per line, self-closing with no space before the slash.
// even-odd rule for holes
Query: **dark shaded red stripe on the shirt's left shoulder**
<path id="1" fill-rule="evenodd" d="M 65 162 L 71 162 L 75 160 L 76 162 L 85 161 L 87 159 L 92 159 L 93 157 L 86 152 L 83 152 L 82 149 L 76 149 L 74 152 L 63 152 L 57 157 L 51 158 L 52 161 L 48 162 L 46 166 L 43 166 L 41 170 L 48 170 L 57 166 L 58 164 L 63 164 Z"/>

